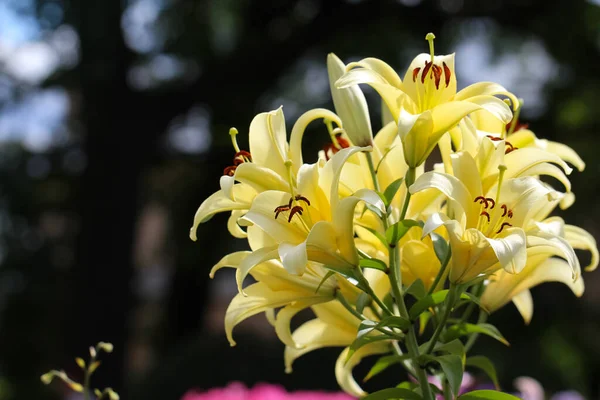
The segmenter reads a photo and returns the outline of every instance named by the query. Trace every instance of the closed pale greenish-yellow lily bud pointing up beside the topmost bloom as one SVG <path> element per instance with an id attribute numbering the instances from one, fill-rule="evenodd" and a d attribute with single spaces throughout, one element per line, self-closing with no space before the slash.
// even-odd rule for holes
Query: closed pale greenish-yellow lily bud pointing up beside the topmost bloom
<path id="1" fill-rule="evenodd" d="M 327 56 L 327 73 L 335 112 L 342 119 L 350 141 L 355 146 L 371 146 L 373 132 L 365 95 L 358 85 L 342 89 L 335 86 L 336 81 L 346 73 L 346 66 L 333 53 Z"/>

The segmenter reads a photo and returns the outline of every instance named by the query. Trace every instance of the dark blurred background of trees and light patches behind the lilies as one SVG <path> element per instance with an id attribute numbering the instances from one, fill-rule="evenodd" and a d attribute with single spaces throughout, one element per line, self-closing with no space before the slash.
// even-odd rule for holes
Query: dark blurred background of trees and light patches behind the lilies
<path id="1" fill-rule="evenodd" d="M 264 317 L 229 348 L 234 285 L 208 271 L 244 243 L 226 216 L 196 243 L 188 230 L 233 155 L 231 126 L 244 143 L 258 112 L 283 105 L 291 126 L 331 107 L 329 52 L 382 58 L 402 75 L 429 31 L 438 54 L 457 53 L 459 86 L 503 84 L 539 137 L 579 152 L 587 168 L 572 175 L 578 200 L 563 216 L 597 236 L 598 0 L 0 1 L 0 399 L 67 398 L 40 374 L 77 376 L 73 357 L 100 340 L 116 351 L 95 386 L 125 399 L 231 380 L 335 389 L 339 350 L 285 375 Z M 306 137 L 307 151 L 327 141 Z M 484 338 L 475 351 L 507 389 L 529 375 L 599 397 L 600 274 L 584 278 L 582 299 L 534 289 L 529 326 L 512 305 L 491 318 L 512 346 Z"/>

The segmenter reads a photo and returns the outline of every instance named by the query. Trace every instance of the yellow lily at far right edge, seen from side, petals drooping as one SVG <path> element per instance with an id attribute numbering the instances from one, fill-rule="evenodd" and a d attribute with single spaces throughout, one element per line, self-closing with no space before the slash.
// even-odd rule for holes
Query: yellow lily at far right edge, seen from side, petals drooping
<path id="1" fill-rule="evenodd" d="M 536 225 L 548 233 L 564 238 L 573 248 L 590 251 L 591 261 L 586 270 L 596 269 L 598 247 L 588 232 L 579 227 L 565 224 L 559 217 L 550 217 Z M 490 277 L 481 297 L 483 307 L 489 312 L 494 312 L 512 301 L 525 323 L 529 323 L 533 316 L 533 299 L 529 289 L 543 282 L 562 282 L 577 297 L 583 294 L 583 278 L 579 276 L 575 280 L 573 279 L 572 268 L 568 261 L 552 257 L 552 254 L 548 252 L 540 252 L 536 247 L 528 248 L 527 253 L 527 264 L 519 274 L 511 275 L 504 271 L 498 271 Z M 564 257 L 564 253 L 556 255 Z M 575 257 L 574 253 L 570 253 L 570 255 Z"/>

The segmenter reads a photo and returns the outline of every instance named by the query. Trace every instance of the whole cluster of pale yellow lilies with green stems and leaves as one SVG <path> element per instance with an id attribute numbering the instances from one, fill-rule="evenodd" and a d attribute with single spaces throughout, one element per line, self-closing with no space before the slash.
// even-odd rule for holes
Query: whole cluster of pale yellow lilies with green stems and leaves
<path id="1" fill-rule="evenodd" d="M 342 347 L 335 375 L 353 396 L 516 398 L 499 388 L 459 396 L 467 366 L 497 383 L 490 360 L 467 353 L 480 335 L 506 343 L 486 319 L 507 303 L 531 319 L 531 287 L 558 281 L 583 293 L 574 249 L 591 253 L 590 271 L 596 242 L 550 215 L 573 204 L 568 175 L 585 164 L 520 124 L 522 101 L 501 85 L 457 91 L 454 54 L 436 56 L 434 35 L 426 40 L 430 52 L 403 79 L 379 59 L 345 65 L 330 54 L 335 112 L 307 111 L 289 136 L 281 108 L 252 120 L 249 151 L 232 128 L 233 164 L 190 236 L 230 212 L 229 231 L 248 241 L 210 272 L 236 270 L 239 293 L 225 316 L 231 345 L 234 327 L 264 312 L 285 344 L 287 371 L 303 354 Z M 382 100 L 376 134 L 362 84 Z M 316 120 L 330 144 L 305 163 L 303 134 Z M 292 332 L 305 309 L 314 319 Z M 364 379 L 395 365 L 404 382 L 367 394 L 352 370 L 370 355 L 378 358 Z"/>

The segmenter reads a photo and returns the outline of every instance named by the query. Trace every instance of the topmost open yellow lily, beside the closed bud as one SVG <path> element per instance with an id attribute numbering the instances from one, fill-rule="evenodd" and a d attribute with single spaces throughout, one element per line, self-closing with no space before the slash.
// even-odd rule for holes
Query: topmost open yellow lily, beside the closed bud
<path id="1" fill-rule="evenodd" d="M 504 124 L 510 122 L 510 108 L 495 95 L 516 102 L 514 95 L 490 82 L 479 82 L 457 93 L 454 54 L 435 56 L 434 38 L 427 35 L 430 54 L 418 55 L 404 80 L 383 61 L 366 58 L 350 64 L 349 72 L 337 82 L 339 88 L 366 83 L 380 94 L 398 124 L 406 162 L 413 168 L 425 161 L 442 135 L 471 113 L 487 111 Z"/>

